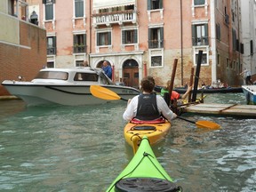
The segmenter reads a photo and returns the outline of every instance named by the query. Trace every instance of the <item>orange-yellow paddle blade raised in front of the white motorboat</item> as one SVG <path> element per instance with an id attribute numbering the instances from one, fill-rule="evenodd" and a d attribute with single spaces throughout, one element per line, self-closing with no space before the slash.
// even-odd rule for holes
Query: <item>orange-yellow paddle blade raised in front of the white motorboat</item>
<path id="1" fill-rule="evenodd" d="M 102 100 L 121 100 L 121 97 L 117 95 L 116 92 L 112 92 L 111 90 L 101 87 L 98 84 L 92 84 L 90 86 L 90 92 L 94 97 Z"/>

